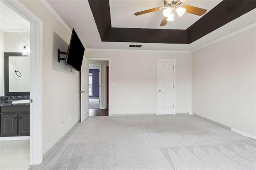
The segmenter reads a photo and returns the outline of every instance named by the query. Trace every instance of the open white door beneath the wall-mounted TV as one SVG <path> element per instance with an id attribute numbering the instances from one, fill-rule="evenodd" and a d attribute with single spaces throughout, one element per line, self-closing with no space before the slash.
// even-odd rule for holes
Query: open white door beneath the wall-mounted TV
<path id="1" fill-rule="evenodd" d="M 81 66 L 81 122 L 83 122 L 89 116 L 88 108 L 88 78 L 89 77 L 89 60 L 84 57 Z"/>

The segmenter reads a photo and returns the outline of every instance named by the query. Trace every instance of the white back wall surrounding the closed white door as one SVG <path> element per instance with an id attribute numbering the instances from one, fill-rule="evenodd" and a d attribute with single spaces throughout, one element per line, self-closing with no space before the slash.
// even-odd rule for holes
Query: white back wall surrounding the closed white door
<path id="1" fill-rule="evenodd" d="M 111 59 L 111 114 L 156 113 L 157 59 L 176 59 L 176 113 L 191 112 L 191 53 L 86 50 L 85 55 Z"/>

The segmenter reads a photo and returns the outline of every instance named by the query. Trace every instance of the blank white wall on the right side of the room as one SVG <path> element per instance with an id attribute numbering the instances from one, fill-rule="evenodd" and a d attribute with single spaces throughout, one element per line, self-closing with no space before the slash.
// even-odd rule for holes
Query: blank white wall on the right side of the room
<path id="1" fill-rule="evenodd" d="M 192 53 L 193 113 L 253 136 L 256 136 L 255 38 L 253 28 Z"/>

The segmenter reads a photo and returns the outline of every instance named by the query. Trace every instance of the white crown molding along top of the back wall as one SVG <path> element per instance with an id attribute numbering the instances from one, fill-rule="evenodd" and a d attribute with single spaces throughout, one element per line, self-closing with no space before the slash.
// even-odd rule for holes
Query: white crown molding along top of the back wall
<path id="1" fill-rule="evenodd" d="M 126 52 L 159 52 L 159 53 L 191 53 L 191 51 L 171 51 L 171 50 L 143 50 L 143 49 L 98 49 L 86 48 L 85 51 L 126 51 Z"/>

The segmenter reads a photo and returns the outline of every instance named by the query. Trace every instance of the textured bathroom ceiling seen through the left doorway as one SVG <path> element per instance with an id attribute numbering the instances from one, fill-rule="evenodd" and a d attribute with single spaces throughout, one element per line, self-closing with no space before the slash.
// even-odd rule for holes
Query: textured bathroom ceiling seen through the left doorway
<path id="1" fill-rule="evenodd" d="M 2 32 L 29 32 L 30 23 L 0 2 L 0 29 Z"/>

